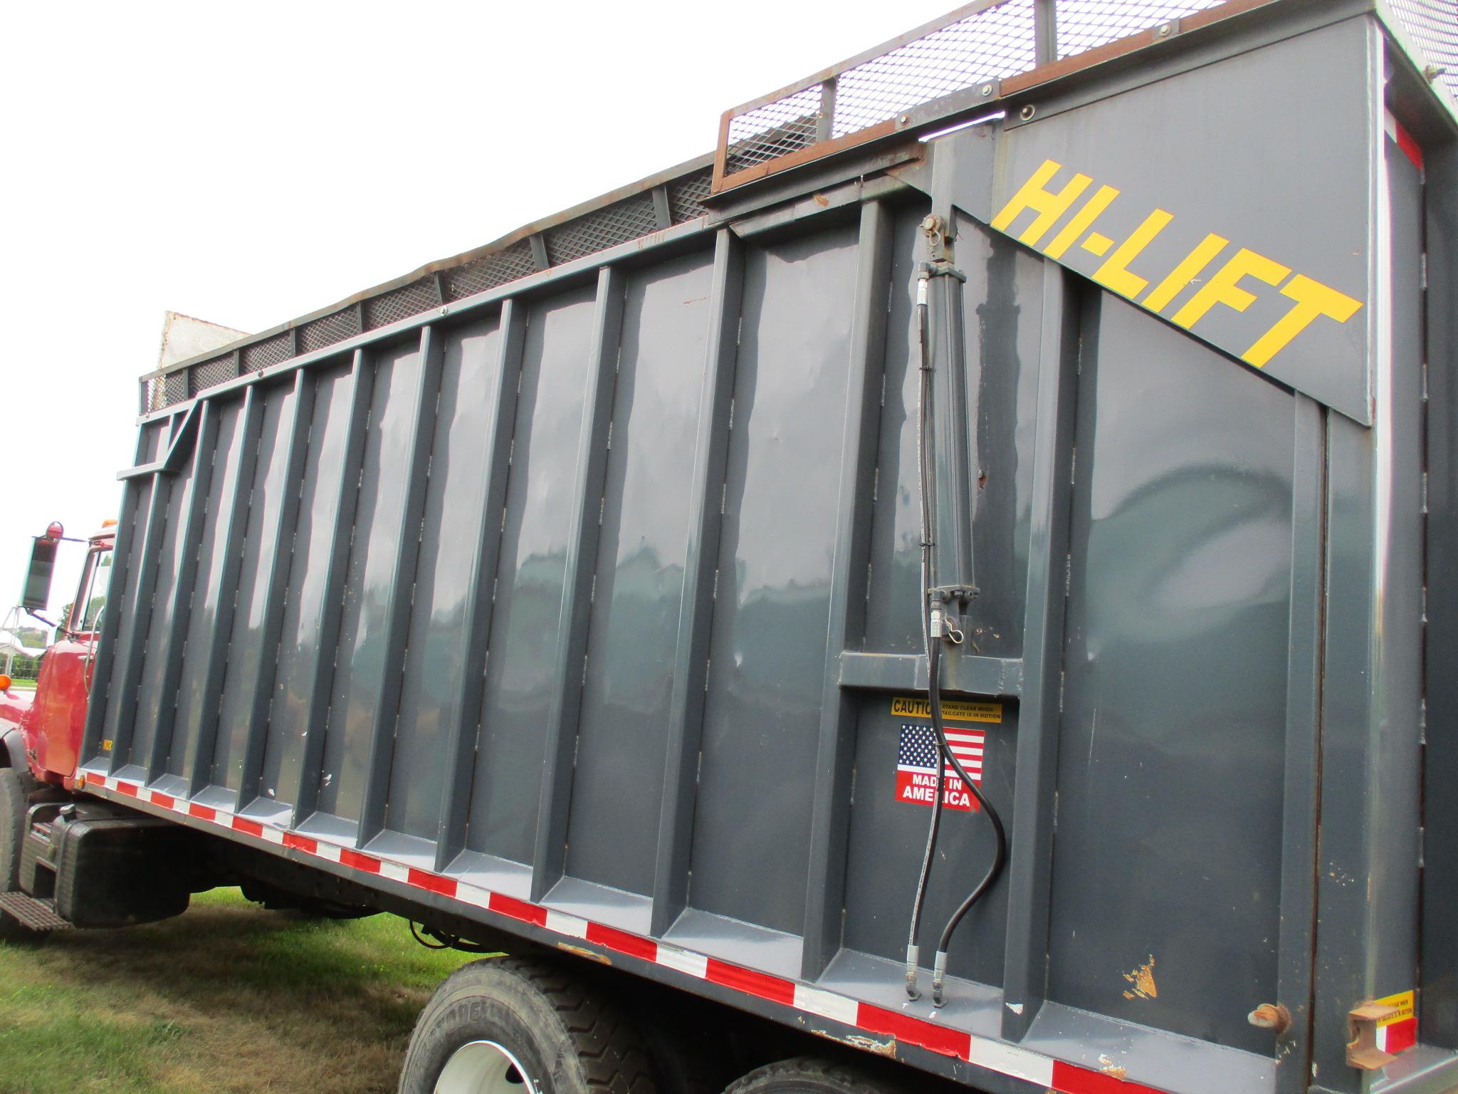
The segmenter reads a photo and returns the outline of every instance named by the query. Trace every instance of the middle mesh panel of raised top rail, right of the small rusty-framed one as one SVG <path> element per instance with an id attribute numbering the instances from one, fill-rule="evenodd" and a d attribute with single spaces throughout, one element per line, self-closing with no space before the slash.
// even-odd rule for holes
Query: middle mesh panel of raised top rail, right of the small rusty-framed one
<path id="1" fill-rule="evenodd" d="M 835 83 L 833 137 L 1037 64 L 1032 0 L 1007 0 L 857 64 Z"/>

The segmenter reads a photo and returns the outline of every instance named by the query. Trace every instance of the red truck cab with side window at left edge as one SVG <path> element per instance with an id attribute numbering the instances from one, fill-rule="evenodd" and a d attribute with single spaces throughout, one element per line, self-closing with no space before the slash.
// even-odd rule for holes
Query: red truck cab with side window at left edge
<path id="1" fill-rule="evenodd" d="M 0 741 L 10 766 L 45 783 L 71 788 L 86 726 L 86 700 L 96 642 L 106 610 L 115 527 L 86 540 L 86 563 L 74 600 L 66 607 L 55 642 L 41 658 L 35 694 L 0 691 Z"/>

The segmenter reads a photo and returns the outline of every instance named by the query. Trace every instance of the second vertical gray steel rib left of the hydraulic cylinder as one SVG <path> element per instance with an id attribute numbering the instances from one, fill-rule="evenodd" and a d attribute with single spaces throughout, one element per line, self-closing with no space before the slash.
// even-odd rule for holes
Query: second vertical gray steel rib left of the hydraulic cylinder
<path id="1" fill-rule="evenodd" d="M 663 763 L 663 807 L 659 815 L 653 875 L 652 931 L 663 934 L 688 900 L 688 861 L 694 826 L 698 745 L 703 734 L 704 687 L 709 675 L 709 632 L 714 613 L 714 567 L 719 563 L 720 496 L 729 455 L 729 404 L 739 356 L 739 312 L 744 299 L 744 249 L 728 229 L 714 239 L 709 295 L 709 346 L 698 397 L 694 446 L 693 512 L 684 562 L 684 594 L 678 608 L 674 693 L 668 751 Z"/>

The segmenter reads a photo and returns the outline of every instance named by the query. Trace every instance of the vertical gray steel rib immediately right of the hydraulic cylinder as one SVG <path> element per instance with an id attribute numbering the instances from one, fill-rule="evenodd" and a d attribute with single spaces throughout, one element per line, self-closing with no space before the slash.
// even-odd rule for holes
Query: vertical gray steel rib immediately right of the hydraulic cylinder
<path id="1" fill-rule="evenodd" d="M 1019 1041 L 1044 1002 L 1053 896 L 1053 802 L 1059 767 L 1064 573 L 1069 550 L 1079 299 L 1073 277 L 1042 264 L 1042 331 L 1034 426 L 1024 686 L 1018 712 L 1007 859 L 1002 1036 Z"/>

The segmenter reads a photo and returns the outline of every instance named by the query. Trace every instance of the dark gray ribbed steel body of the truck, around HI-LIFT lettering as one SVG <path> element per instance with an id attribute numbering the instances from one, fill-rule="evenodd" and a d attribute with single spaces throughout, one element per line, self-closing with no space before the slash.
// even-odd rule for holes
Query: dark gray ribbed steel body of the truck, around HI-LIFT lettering
<path id="1" fill-rule="evenodd" d="M 935 212 L 971 445 L 939 534 L 980 589 L 945 686 L 1010 833 L 936 1021 L 1175 1094 L 1458 1082 L 1458 134 L 1362 7 L 1273 4 L 144 419 L 86 766 L 932 1017 L 894 700 Z M 1050 159 L 1092 182 L 1022 239 Z M 1286 274 L 1209 328 L 1171 319 L 1217 265 L 1142 306 L 1206 233 L 1360 311 L 1242 363 Z M 932 929 L 991 855 L 943 827 Z M 1347 1066 L 1347 1012 L 1414 988 L 1422 1044 Z"/>

